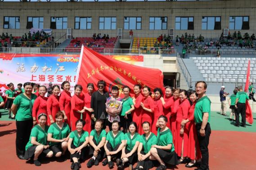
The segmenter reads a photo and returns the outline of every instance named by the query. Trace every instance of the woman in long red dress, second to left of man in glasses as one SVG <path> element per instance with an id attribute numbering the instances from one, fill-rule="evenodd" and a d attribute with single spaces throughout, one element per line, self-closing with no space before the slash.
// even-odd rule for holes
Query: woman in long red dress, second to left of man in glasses
<path id="1" fill-rule="evenodd" d="M 175 151 L 180 157 L 178 163 L 182 164 L 185 162 L 185 157 L 188 155 L 188 140 L 189 130 L 188 126 L 182 126 L 182 120 L 186 120 L 189 114 L 190 103 L 188 98 L 188 92 L 186 90 L 180 90 L 180 102 L 177 109 L 176 116 L 176 131 L 175 131 Z"/>

